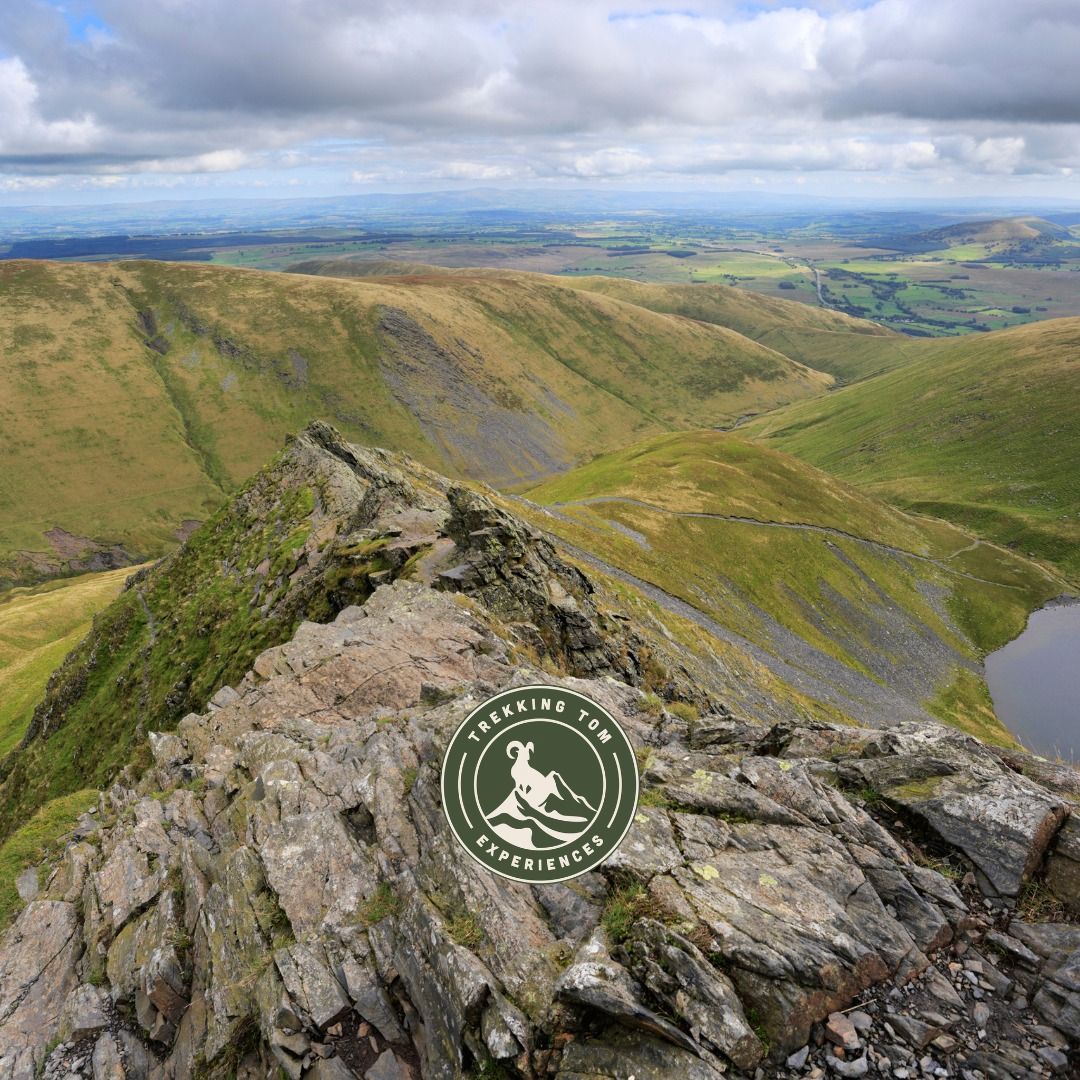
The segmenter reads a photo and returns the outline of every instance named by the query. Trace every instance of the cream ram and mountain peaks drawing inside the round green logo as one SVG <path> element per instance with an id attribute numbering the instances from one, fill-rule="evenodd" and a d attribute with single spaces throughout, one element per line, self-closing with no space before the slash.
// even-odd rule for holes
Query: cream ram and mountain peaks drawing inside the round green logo
<path id="1" fill-rule="evenodd" d="M 596 807 L 578 795 L 554 770 L 541 772 L 530 762 L 531 742 L 512 742 L 507 756 L 510 794 L 484 818 L 491 831 L 508 843 L 530 851 L 572 843 L 596 816 Z"/>

